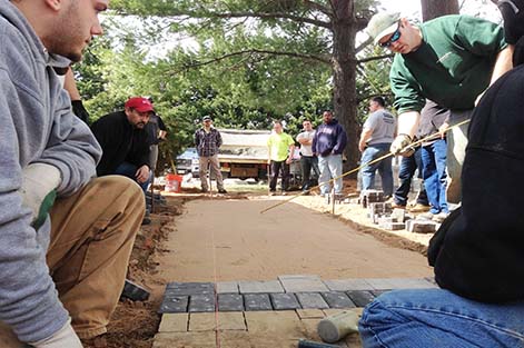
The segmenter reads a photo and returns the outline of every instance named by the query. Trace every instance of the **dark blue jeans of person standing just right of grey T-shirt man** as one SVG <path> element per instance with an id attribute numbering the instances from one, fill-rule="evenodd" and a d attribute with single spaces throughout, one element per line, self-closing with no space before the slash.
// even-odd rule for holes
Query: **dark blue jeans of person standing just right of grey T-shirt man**
<path id="1" fill-rule="evenodd" d="M 418 168 L 418 178 L 422 178 L 422 158 L 421 148 L 418 147 L 409 157 L 403 157 L 401 160 L 401 169 L 398 171 L 398 180 L 401 181 L 398 188 L 395 190 L 395 203 L 399 206 L 407 206 L 407 195 L 412 188 L 412 179 Z M 421 188 L 417 197 L 417 203 L 428 206 L 426 190 Z"/>

